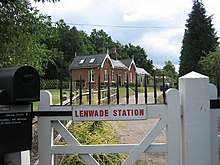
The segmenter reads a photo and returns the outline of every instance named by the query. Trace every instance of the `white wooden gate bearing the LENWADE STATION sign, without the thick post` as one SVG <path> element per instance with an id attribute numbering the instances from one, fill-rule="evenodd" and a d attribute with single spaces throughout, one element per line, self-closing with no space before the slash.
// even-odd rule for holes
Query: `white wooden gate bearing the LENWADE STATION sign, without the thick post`
<path id="1" fill-rule="evenodd" d="M 88 164 L 95 165 L 98 162 L 92 157 L 94 153 L 127 153 L 128 158 L 123 164 L 132 164 L 144 152 L 165 152 L 167 153 L 167 164 L 180 164 L 180 106 L 179 94 L 175 89 L 167 92 L 167 105 L 50 106 L 50 100 L 51 95 L 48 92 L 42 92 L 41 102 L 38 105 L 39 110 L 50 110 L 53 112 L 69 111 L 73 112 L 73 116 L 43 116 L 38 118 L 40 165 L 53 164 L 53 154 L 79 154 Z M 97 112 L 98 116 L 93 114 L 93 116 L 85 117 L 83 112 L 86 111 L 87 114 L 88 111 L 92 110 L 99 111 Z M 120 111 L 121 114 L 117 113 L 119 112 L 118 110 L 124 111 L 124 115 L 122 111 Z M 106 121 L 154 118 L 159 118 L 160 120 L 139 144 L 81 145 L 60 122 L 60 120 Z M 153 140 L 164 128 L 167 129 L 167 144 L 152 144 Z M 69 144 L 53 144 L 53 129 L 56 129 Z"/>

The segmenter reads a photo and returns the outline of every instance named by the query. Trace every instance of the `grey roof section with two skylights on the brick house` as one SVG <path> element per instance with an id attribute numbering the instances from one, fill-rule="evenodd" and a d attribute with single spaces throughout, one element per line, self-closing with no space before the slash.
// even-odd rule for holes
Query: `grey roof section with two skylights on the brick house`
<path id="1" fill-rule="evenodd" d="M 89 56 L 76 56 L 70 64 L 69 69 L 103 67 L 104 61 L 106 59 L 109 59 L 112 64 L 110 56 L 106 53 Z"/>

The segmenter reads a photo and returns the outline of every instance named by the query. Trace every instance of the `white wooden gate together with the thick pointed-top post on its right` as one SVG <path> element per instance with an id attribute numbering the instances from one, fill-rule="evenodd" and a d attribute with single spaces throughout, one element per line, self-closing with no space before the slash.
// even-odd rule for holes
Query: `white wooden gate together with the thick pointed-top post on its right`
<path id="1" fill-rule="evenodd" d="M 180 78 L 179 91 L 166 92 L 167 104 L 135 105 L 73 105 L 51 106 L 49 92 L 41 92 L 39 111 L 72 115 L 39 116 L 38 145 L 40 165 L 52 165 L 54 154 L 79 154 L 89 165 L 99 164 L 93 154 L 126 153 L 124 165 L 133 164 L 142 153 L 164 152 L 168 165 L 218 164 L 218 110 L 210 109 L 210 99 L 217 98 L 217 90 L 209 78 L 191 72 Z M 157 125 L 139 144 L 82 145 L 60 122 L 147 120 L 159 119 Z M 214 119 L 214 120 L 212 120 Z M 166 143 L 152 143 L 166 128 Z M 53 130 L 58 131 L 67 145 L 53 143 Z"/>

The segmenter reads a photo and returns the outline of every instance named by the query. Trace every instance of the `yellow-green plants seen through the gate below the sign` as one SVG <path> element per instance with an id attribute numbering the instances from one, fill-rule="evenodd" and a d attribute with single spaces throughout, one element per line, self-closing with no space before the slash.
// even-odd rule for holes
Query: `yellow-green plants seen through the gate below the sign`
<path id="1" fill-rule="evenodd" d="M 74 122 L 69 129 L 81 144 L 116 144 L 117 141 L 109 122 Z M 94 158 L 102 165 L 115 164 L 122 162 L 125 156 L 123 154 L 94 154 Z M 68 155 L 65 159 L 66 165 L 86 164 L 78 155 Z"/>

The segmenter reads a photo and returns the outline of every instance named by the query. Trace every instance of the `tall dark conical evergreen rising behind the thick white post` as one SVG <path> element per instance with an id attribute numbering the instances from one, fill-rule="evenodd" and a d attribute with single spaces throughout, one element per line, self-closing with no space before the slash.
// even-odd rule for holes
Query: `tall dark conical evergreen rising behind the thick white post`
<path id="1" fill-rule="evenodd" d="M 212 16 L 206 15 L 202 2 L 194 1 L 192 11 L 186 23 L 182 40 L 179 75 L 190 71 L 204 73 L 199 64 L 201 57 L 215 51 L 218 37 L 212 24 Z"/>

